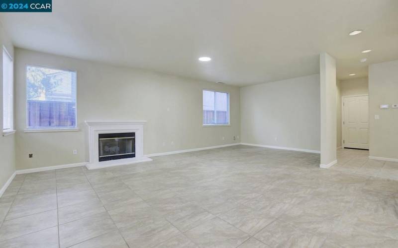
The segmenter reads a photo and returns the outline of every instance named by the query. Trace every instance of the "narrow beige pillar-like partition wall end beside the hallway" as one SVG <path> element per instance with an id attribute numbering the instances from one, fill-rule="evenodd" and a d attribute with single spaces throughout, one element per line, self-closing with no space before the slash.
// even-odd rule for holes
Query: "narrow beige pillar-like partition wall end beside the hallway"
<path id="1" fill-rule="evenodd" d="M 336 61 L 326 53 L 319 56 L 320 81 L 320 163 L 329 167 L 335 163 L 336 124 Z"/>

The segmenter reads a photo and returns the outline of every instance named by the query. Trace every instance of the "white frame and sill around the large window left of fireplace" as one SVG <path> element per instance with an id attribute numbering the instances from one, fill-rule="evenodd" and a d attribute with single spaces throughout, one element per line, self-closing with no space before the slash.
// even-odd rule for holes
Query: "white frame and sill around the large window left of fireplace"
<path id="1" fill-rule="evenodd" d="M 74 127 L 44 127 L 44 128 L 29 128 L 28 126 L 28 99 L 27 99 L 27 72 L 28 66 L 31 67 L 40 67 L 40 68 L 48 68 L 48 69 L 55 69 L 55 70 L 63 70 L 63 71 L 71 71 L 76 73 L 76 113 L 75 113 L 75 120 L 76 126 Z M 78 127 L 78 72 L 74 69 L 64 69 L 64 68 L 57 68 L 52 66 L 46 65 L 37 65 L 37 64 L 25 64 L 25 129 L 23 132 L 69 132 L 69 131 L 79 131 Z"/>

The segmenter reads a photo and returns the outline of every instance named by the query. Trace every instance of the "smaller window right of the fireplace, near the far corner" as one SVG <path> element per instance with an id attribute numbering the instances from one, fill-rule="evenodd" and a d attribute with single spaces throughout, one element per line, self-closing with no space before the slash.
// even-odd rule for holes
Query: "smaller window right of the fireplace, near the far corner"
<path id="1" fill-rule="evenodd" d="M 203 125 L 229 124 L 229 94 L 203 90 Z"/>

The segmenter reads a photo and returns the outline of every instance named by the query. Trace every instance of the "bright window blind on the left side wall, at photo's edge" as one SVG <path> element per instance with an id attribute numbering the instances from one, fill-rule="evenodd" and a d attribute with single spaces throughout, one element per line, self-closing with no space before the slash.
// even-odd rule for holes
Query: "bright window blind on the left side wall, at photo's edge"
<path id="1" fill-rule="evenodd" d="M 13 63 L 7 50 L 3 47 L 3 130 L 14 129 L 13 126 Z"/>

